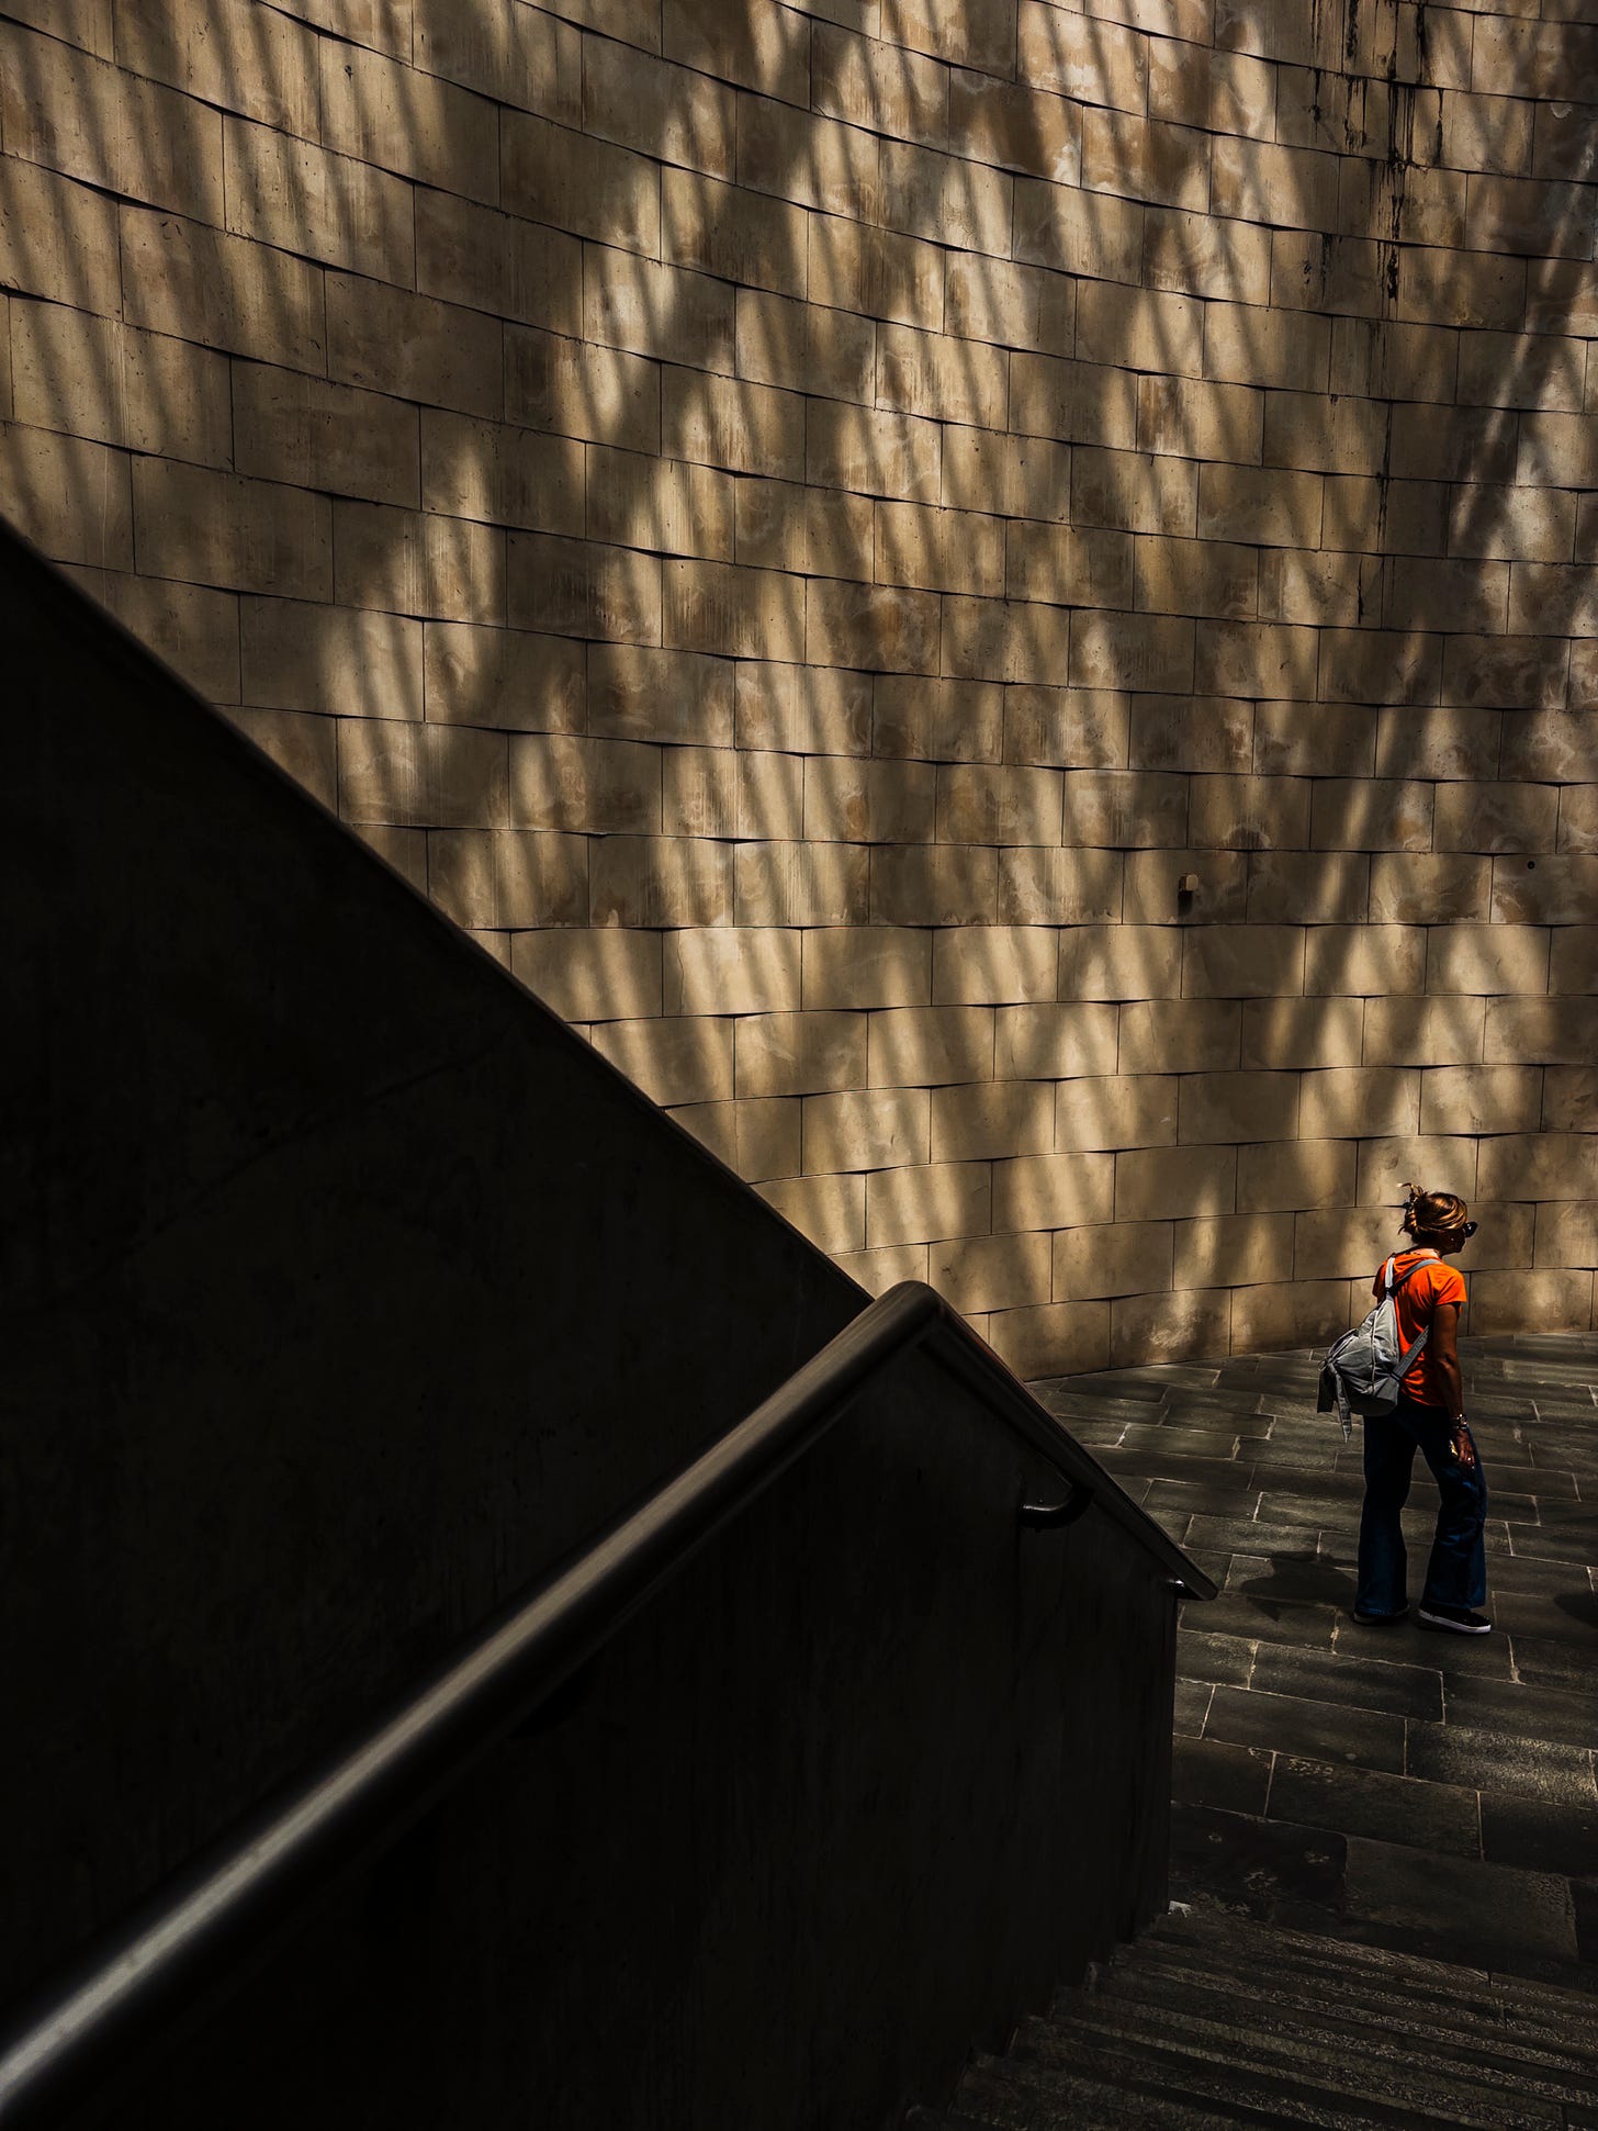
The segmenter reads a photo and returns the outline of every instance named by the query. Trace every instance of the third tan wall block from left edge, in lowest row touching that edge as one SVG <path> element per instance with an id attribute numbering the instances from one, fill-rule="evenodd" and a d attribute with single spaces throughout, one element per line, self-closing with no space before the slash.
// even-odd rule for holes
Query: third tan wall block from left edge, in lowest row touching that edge
<path id="1" fill-rule="evenodd" d="M 332 597 L 339 605 L 492 627 L 507 612 L 505 535 L 499 526 L 441 511 L 335 501 Z M 511 603 L 511 620 L 522 618 L 539 622 L 537 614 L 522 616 Z"/>

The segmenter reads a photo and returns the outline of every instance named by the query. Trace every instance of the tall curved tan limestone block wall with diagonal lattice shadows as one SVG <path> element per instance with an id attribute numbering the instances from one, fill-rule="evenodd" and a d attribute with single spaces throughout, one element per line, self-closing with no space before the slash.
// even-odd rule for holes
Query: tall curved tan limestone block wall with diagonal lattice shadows
<path id="1" fill-rule="evenodd" d="M 0 509 L 848 1270 L 1592 1321 L 1581 0 L 0 11 Z"/>

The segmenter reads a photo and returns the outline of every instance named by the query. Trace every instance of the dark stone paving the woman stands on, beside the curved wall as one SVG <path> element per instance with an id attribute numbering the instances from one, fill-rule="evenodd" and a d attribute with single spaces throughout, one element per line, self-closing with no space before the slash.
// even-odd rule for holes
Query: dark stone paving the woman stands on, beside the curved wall
<path id="1" fill-rule="evenodd" d="M 1481 1639 L 1351 1620 L 1359 1436 L 1319 1357 L 1033 1392 L 1221 1585 L 1178 1645 L 1172 1894 L 1598 1990 L 1598 1334 L 1462 1340 Z M 1404 1526 L 1419 1596 L 1436 1507 Z"/>

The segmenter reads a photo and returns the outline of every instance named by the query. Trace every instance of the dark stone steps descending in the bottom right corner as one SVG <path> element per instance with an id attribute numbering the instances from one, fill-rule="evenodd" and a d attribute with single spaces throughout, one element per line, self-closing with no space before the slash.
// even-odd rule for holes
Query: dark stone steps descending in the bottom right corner
<path id="1" fill-rule="evenodd" d="M 1174 1909 L 910 2125 L 1598 2127 L 1598 2001 Z"/>

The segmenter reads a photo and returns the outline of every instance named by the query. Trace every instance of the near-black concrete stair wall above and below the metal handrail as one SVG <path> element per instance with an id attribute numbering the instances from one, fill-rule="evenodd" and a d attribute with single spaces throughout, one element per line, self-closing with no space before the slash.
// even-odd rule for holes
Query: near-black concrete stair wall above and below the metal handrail
<path id="1" fill-rule="evenodd" d="M 861 1294 L 0 546 L 0 1995 Z M 916 1360 L 111 2120 L 886 2122 L 1159 1899 L 1172 1598 Z"/>

